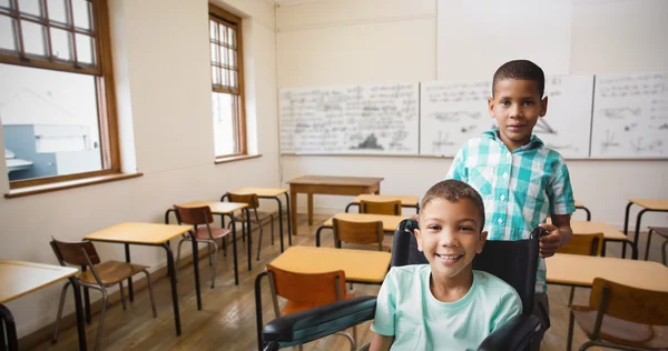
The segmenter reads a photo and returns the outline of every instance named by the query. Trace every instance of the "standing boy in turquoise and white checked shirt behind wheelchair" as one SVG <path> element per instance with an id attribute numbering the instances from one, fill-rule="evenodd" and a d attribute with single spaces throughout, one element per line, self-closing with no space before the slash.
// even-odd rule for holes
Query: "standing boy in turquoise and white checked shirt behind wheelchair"
<path id="1" fill-rule="evenodd" d="M 468 182 L 482 195 L 489 240 L 529 239 L 539 224 L 549 233 L 540 239 L 533 314 L 542 329 L 531 350 L 540 350 L 542 334 L 550 325 L 543 258 L 570 241 L 570 214 L 576 211 L 563 158 L 532 134 L 548 110 L 544 80 L 542 69 L 531 61 L 501 66 L 488 100 L 499 129 L 469 140 L 446 176 Z M 552 224 L 544 223 L 548 215 Z"/>

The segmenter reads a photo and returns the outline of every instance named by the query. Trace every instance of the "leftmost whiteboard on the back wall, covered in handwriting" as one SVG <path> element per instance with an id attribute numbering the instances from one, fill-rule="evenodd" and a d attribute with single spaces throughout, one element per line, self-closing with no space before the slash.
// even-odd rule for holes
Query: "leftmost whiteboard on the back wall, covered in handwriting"
<path id="1" fill-rule="evenodd" d="M 419 84 L 283 88 L 282 153 L 419 153 Z"/>

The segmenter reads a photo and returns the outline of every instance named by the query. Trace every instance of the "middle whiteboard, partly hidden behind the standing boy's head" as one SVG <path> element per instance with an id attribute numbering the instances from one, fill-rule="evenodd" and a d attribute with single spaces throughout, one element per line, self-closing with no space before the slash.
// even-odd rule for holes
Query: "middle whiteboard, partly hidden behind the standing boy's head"
<path id="1" fill-rule="evenodd" d="M 488 111 L 491 89 L 491 80 L 422 83 L 420 152 L 453 157 L 466 140 L 497 128 Z M 546 77 L 548 113 L 533 133 L 564 158 L 589 156 L 592 90 L 593 76 Z"/>

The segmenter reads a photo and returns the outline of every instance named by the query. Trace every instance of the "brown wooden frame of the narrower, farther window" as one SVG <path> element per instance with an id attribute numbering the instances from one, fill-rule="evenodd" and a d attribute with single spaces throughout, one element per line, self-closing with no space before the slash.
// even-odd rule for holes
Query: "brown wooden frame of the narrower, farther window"
<path id="1" fill-rule="evenodd" d="M 236 30 L 236 64 L 238 67 L 238 72 L 237 72 L 237 79 L 238 79 L 238 93 L 235 93 L 234 91 L 227 90 L 227 89 L 223 89 L 223 90 L 216 90 L 216 88 L 214 88 L 214 82 L 212 79 L 212 99 L 213 99 L 213 93 L 214 92 L 218 92 L 218 93 L 229 93 L 229 94 L 236 94 L 237 99 L 238 99 L 238 103 L 237 103 L 237 118 L 236 118 L 236 131 L 234 131 L 236 133 L 236 149 L 239 150 L 238 152 L 233 152 L 233 153 L 228 153 L 228 154 L 216 154 L 216 161 L 224 161 L 230 158 L 239 158 L 239 157 L 246 157 L 248 156 L 248 146 L 247 146 L 247 138 L 246 138 L 246 96 L 245 96 L 245 84 L 244 84 L 244 40 L 243 40 L 243 30 L 242 30 L 242 18 L 238 16 L 235 16 L 233 13 L 229 13 L 228 11 L 213 4 L 209 3 L 209 16 L 208 19 L 209 21 L 216 21 L 216 22 L 223 22 L 223 24 L 227 26 L 227 27 L 233 27 Z M 207 22 L 208 23 L 208 22 Z M 213 62 L 210 61 L 210 44 L 212 44 L 212 38 L 210 38 L 210 29 L 208 30 L 208 42 L 209 42 L 209 66 L 214 66 Z M 210 77 L 210 76 L 209 76 Z M 216 138 L 216 136 L 214 136 L 214 138 Z"/>

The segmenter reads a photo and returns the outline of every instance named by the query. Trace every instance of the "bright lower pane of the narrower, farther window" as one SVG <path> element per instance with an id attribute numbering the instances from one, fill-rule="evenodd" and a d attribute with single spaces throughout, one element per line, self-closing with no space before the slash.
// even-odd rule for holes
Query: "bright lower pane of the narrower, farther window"
<path id="1" fill-rule="evenodd" d="M 228 93 L 213 93 L 214 141 L 216 156 L 236 153 L 237 149 L 237 97 Z"/>

